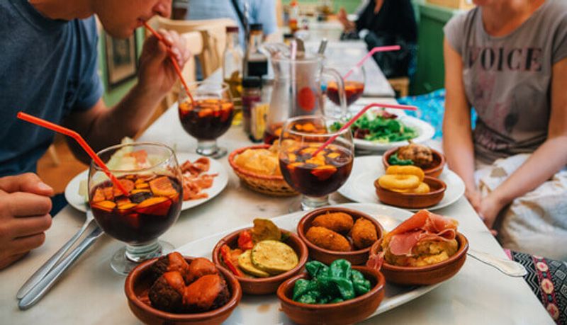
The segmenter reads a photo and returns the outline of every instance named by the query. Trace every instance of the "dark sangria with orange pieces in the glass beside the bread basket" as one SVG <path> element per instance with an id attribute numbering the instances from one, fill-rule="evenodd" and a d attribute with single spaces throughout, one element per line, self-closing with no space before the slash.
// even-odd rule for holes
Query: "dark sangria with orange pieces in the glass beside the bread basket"
<path id="1" fill-rule="evenodd" d="M 352 170 L 352 152 L 330 144 L 315 156 L 322 143 L 289 145 L 281 152 L 283 178 L 299 193 L 322 197 L 338 190 Z"/>

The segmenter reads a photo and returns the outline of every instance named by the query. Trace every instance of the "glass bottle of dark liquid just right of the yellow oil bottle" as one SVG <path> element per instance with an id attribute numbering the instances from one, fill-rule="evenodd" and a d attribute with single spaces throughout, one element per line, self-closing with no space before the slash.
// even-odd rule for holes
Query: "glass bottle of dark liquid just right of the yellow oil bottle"
<path id="1" fill-rule="evenodd" d="M 246 48 L 244 75 L 245 76 L 262 76 L 268 74 L 268 57 L 260 52 L 262 42 L 264 42 L 264 33 L 261 23 L 253 23 L 250 25 L 250 35 L 248 46 Z"/>

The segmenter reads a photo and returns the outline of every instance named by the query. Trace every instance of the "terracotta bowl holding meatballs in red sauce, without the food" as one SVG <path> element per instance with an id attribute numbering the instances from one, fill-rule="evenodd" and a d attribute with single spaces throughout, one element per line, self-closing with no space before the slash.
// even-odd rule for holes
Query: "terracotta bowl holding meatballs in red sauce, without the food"
<path id="1" fill-rule="evenodd" d="M 193 260 L 191 257 L 185 257 L 185 259 L 187 263 L 191 263 Z M 128 307 L 130 307 L 133 314 L 145 324 L 221 324 L 225 319 L 228 319 L 240 302 L 240 298 L 242 298 L 242 290 L 235 277 L 230 271 L 217 266 L 220 274 L 225 278 L 228 290 L 230 291 L 230 299 L 223 307 L 211 310 L 210 312 L 195 314 L 162 312 L 144 302 L 148 301 L 147 291 L 150 290 L 152 286 L 148 270 L 155 261 L 157 261 L 157 258 L 145 261 L 139 266 L 136 266 L 130 274 L 128 274 L 124 285 L 124 291 L 126 297 L 128 297 Z"/>

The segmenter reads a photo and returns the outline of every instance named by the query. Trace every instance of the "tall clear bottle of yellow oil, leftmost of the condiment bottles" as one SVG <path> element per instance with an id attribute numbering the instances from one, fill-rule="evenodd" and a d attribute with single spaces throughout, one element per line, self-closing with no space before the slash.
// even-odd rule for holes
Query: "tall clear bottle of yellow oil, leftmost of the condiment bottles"
<path id="1" fill-rule="evenodd" d="M 228 84 L 235 109 L 242 107 L 242 61 L 244 52 L 238 41 L 238 26 L 226 27 L 226 44 L 223 54 L 223 79 Z"/>

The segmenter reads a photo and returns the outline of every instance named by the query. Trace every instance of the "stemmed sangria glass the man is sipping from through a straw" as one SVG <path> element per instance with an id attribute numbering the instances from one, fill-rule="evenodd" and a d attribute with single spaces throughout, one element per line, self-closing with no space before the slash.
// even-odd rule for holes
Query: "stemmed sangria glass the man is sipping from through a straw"
<path id="1" fill-rule="evenodd" d="M 188 85 L 193 101 L 183 87 L 179 92 L 179 120 L 184 130 L 197 139 L 197 153 L 218 159 L 226 155 L 217 138 L 232 124 L 234 104 L 228 84 L 200 81 Z"/>

